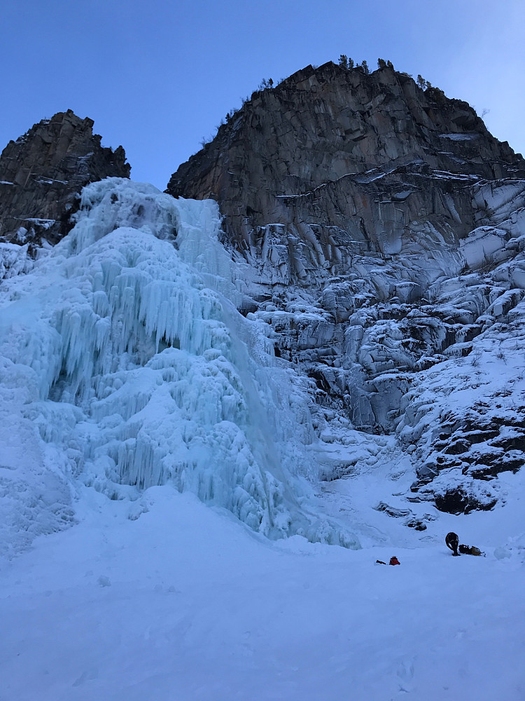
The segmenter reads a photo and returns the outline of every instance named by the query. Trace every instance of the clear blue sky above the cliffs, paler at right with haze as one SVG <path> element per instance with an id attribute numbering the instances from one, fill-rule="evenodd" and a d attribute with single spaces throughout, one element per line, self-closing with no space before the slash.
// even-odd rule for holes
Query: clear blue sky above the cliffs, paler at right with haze
<path id="1" fill-rule="evenodd" d="M 170 175 L 264 78 L 345 53 L 423 75 L 525 153 L 524 0 L 1 0 L 0 148 L 73 109 Z"/>

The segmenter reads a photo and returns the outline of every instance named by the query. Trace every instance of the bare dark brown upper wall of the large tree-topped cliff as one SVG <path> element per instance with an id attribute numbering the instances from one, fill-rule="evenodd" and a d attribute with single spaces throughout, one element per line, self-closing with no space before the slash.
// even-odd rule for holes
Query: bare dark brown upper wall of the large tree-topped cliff
<path id="1" fill-rule="evenodd" d="M 248 256 L 269 238 L 338 273 L 349 253 L 413 247 L 414 220 L 457 240 L 475 224 L 465 186 L 520 170 L 467 103 L 388 67 L 365 75 L 330 62 L 254 93 L 167 192 L 216 199 Z M 293 251 L 281 255 L 284 280 L 304 277 Z"/>

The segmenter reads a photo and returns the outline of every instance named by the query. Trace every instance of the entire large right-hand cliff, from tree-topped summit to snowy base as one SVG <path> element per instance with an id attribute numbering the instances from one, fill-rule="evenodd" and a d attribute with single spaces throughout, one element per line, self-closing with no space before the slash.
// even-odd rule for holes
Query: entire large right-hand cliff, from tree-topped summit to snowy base
<path id="1" fill-rule="evenodd" d="M 218 202 L 239 308 L 313 381 L 325 440 L 342 423 L 395 436 L 410 501 L 503 498 L 525 402 L 484 363 L 523 343 L 525 161 L 470 105 L 386 64 L 309 66 L 229 114 L 167 192 Z"/>

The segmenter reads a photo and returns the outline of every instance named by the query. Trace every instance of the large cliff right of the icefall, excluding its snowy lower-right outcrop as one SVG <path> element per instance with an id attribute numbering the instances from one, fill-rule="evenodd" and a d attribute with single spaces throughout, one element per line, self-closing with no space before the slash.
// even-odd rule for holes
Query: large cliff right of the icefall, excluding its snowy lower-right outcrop
<path id="1" fill-rule="evenodd" d="M 272 326 L 276 353 L 302 365 L 318 402 L 388 431 L 403 373 L 489 323 L 505 292 L 497 275 L 454 304 L 440 281 L 514 257 L 519 227 L 503 221 L 524 204 L 524 176 L 467 103 L 388 67 L 330 62 L 254 93 L 167 191 L 218 200 L 225 243 L 249 264 L 241 311 Z M 468 238 L 494 224 L 497 236 Z M 519 288 L 514 306 L 523 284 L 505 285 Z"/>

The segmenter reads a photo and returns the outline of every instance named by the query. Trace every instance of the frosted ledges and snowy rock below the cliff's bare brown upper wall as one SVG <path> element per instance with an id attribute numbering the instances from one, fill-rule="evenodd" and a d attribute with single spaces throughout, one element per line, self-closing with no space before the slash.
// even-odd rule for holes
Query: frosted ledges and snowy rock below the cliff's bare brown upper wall
<path id="1" fill-rule="evenodd" d="M 386 433 L 410 456 L 405 501 L 468 513 L 505 503 L 506 480 L 525 464 L 525 181 L 465 182 L 466 217 L 451 196 L 457 174 L 438 175 L 451 188 L 440 195 L 444 218 L 406 212 L 401 229 L 376 219 L 375 249 L 332 227 L 329 250 L 310 220 L 299 241 L 272 218 L 232 257 L 253 315 L 272 328 L 276 355 L 315 383 L 316 428 L 333 455 L 340 451 L 333 459 L 320 451 L 325 479 L 352 477 L 366 463 L 346 451 L 343 419 L 360 445 L 372 444 L 363 435 Z M 381 207 L 390 198 L 386 186 L 377 195 Z"/>

